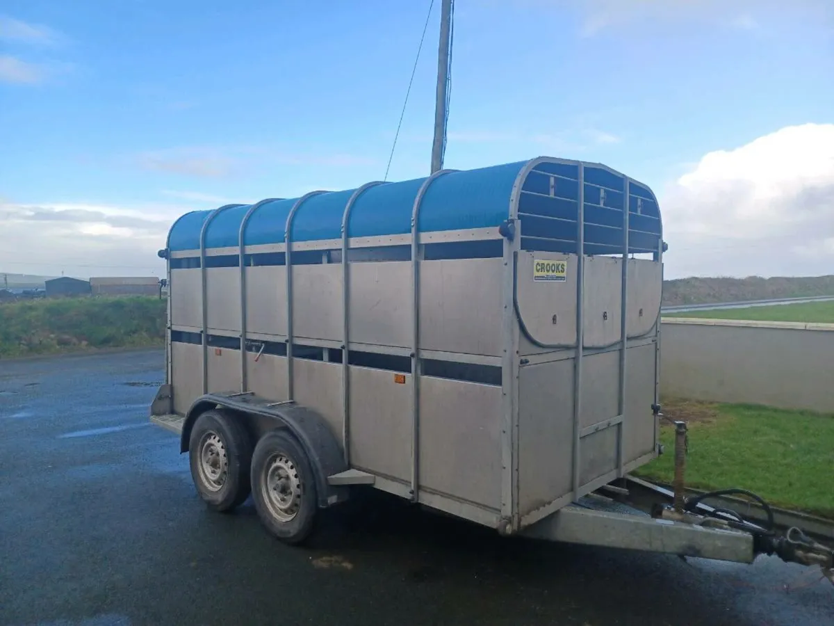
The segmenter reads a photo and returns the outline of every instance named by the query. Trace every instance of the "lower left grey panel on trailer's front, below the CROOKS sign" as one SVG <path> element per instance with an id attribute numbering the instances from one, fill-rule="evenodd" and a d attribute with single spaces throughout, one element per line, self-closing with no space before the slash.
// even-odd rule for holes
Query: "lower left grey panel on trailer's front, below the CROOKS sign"
<path id="1" fill-rule="evenodd" d="M 520 368 L 519 512 L 570 492 L 574 360 Z"/>

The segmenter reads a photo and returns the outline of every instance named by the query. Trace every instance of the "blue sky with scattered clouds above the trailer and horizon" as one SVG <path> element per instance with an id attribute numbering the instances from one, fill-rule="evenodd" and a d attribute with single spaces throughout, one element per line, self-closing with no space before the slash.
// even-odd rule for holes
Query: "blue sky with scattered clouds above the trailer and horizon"
<path id="1" fill-rule="evenodd" d="M 431 0 L 4 0 L 0 272 L 163 275 L 188 210 L 381 179 Z M 389 180 L 430 170 L 440 0 Z M 600 162 L 667 278 L 834 274 L 830 0 L 455 0 L 445 166 Z"/>

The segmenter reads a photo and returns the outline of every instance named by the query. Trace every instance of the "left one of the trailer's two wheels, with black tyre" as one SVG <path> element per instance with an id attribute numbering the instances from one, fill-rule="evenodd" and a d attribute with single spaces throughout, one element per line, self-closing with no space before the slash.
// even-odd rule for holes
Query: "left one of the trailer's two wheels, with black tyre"
<path id="1" fill-rule="evenodd" d="M 188 440 L 191 477 L 209 508 L 227 512 L 251 491 L 252 438 L 239 420 L 222 411 L 197 418 Z"/>

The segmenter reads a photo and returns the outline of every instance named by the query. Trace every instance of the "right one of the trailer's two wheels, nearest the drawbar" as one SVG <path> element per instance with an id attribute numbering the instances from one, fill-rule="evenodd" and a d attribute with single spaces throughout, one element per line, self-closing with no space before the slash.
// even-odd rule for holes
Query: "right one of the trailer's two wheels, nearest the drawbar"
<path id="1" fill-rule="evenodd" d="M 261 437 L 252 455 L 252 499 L 261 523 L 284 543 L 302 543 L 318 510 L 313 469 L 288 432 Z"/>

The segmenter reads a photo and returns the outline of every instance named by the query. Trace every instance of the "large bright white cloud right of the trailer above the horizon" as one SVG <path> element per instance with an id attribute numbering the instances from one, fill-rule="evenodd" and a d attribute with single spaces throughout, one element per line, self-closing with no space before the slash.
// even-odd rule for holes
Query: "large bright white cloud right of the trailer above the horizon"
<path id="1" fill-rule="evenodd" d="M 706 154 L 661 212 L 670 275 L 834 273 L 834 124 Z"/>

